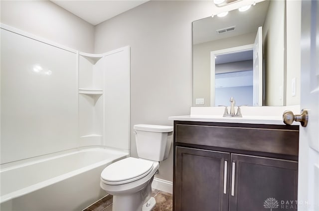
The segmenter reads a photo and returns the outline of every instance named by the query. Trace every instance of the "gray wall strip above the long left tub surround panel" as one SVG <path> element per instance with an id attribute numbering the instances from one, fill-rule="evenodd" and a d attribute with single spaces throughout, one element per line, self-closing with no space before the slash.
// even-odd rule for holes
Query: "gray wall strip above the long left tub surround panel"
<path id="1" fill-rule="evenodd" d="M 93 53 L 94 26 L 51 1 L 0 1 L 1 23 L 73 49 Z"/>

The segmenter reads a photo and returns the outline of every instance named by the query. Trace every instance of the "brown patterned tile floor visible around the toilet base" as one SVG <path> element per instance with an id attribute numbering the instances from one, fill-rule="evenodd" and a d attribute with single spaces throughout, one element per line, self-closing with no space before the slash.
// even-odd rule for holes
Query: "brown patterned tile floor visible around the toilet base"
<path id="1" fill-rule="evenodd" d="M 153 189 L 152 197 L 156 200 L 156 206 L 152 211 L 172 211 L 171 194 Z M 108 195 L 83 211 L 112 211 L 112 202 L 113 196 Z"/>

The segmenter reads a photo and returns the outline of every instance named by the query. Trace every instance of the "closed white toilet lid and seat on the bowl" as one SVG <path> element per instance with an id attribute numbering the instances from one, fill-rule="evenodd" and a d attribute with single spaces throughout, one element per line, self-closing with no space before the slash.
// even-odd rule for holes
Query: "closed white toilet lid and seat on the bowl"
<path id="1" fill-rule="evenodd" d="M 101 173 L 101 179 L 111 185 L 133 182 L 148 175 L 153 169 L 153 164 L 149 160 L 125 158 L 107 166 Z"/>

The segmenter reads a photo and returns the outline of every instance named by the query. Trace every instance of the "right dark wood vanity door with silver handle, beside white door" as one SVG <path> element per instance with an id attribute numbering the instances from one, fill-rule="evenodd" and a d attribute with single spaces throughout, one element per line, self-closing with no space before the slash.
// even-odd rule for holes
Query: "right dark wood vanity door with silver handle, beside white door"
<path id="1" fill-rule="evenodd" d="M 231 154 L 230 211 L 297 210 L 296 161 Z"/>

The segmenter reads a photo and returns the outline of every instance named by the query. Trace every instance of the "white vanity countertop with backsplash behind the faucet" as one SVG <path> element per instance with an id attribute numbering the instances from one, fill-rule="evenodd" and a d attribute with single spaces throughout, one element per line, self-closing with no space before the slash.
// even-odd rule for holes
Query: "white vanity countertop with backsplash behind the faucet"
<path id="1" fill-rule="evenodd" d="M 300 106 L 241 107 L 243 117 L 223 117 L 224 107 L 191 107 L 190 115 L 169 116 L 168 119 L 179 121 L 284 125 L 283 112 L 285 110 L 292 110 L 296 114 L 300 111 L 299 107 Z M 237 110 L 236 106 L 235 108 L 235 110 Z M 299 125 L 299 122 L 294 121 L 292 125 Z"/>

